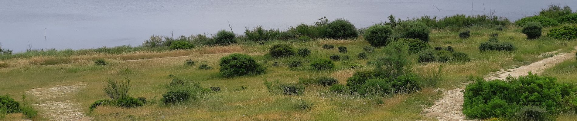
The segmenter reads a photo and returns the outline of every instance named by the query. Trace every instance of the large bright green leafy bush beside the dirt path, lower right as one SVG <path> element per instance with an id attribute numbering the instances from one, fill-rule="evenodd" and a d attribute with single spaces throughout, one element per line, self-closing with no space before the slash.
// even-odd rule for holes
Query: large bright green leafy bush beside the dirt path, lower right
<path id="1" fill-rule="evenodd" d="M 475 79 L 464 91 L 463 114 L 468 118 L 541 119 L 577 107 L 577 86 L 559 83 L 556 78 L 538 76 L 507 77 L 506 80 Z M 534 107 L 527 107 L 534 106 Z M 544 110 L 544 111 L 543 111 Z"/>

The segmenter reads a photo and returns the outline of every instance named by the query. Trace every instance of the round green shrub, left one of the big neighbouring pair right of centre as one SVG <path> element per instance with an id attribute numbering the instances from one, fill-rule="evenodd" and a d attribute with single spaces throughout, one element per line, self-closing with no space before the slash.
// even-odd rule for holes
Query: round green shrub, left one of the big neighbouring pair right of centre
<path id="1" fill-rule="evenodd" d="M 388 25 L 373 25 L 365 30 L 363 37 L 371 46 L 385 46 L 392 31 L 391 26 Z"/>

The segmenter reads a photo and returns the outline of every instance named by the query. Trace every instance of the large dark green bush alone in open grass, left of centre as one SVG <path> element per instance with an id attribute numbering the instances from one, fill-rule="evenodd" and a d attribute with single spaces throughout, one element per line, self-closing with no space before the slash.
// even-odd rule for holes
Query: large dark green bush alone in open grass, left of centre
<path id="1" fill-rule="evenodd" d="M 220 75 L 224 77 L 258 75 L 266 68 L 246 54 L 234 53 L 220 58 Z"/>

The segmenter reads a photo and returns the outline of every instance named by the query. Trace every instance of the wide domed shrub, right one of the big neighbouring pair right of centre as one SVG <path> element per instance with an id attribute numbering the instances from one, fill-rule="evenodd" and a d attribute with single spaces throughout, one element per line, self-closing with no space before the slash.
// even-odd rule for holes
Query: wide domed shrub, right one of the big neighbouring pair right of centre
<path id="1" fill-rule="evenodd" d="M 396 37 L 399 38 L 418 38 L 421 41 L 429 42 L 429 33 L 431 29 L 423 22 L 407 21 L 401 22 L 394 29 Z"/>

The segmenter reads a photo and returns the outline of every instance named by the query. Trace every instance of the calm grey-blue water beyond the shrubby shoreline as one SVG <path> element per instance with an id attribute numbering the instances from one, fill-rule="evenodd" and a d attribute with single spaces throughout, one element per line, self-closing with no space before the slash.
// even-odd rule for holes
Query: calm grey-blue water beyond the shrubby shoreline
<path id="1" fill-rule="evenodd" d="M 346 18 L 357 27 L 422 15 L 489 14 L 511 20 L 538 14 L 551 3 L 577 9 L 575 0 L 293 0 L 293 1 L 30 1 L 0 0 L 0 44 L 22 52 L 27 48 L 83 49 L 140 45 L 151 35 L 213 34 L 245 27 L 286 29 L 312 24 L 326 16 Z M 46 31 L 46 38 L 44 32 Z"/>

